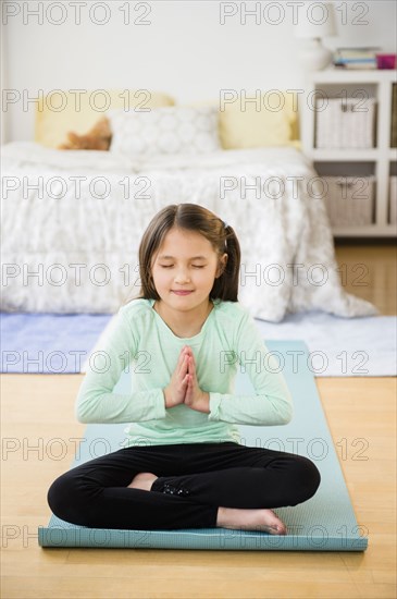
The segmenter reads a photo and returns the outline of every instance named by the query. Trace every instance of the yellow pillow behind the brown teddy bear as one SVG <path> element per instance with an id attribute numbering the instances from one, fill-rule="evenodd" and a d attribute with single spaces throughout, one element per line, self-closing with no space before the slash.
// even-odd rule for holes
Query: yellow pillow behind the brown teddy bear
<path id="1" fill-rule="evenodd" d="M 174 106 L 166 94 L 147 89 L 54 90 L 48 94 L 36 110 L 35 142 L 57 148 L 66 140 L 69 131 L 84 134 L 113 108 L 139 110 Z"/>

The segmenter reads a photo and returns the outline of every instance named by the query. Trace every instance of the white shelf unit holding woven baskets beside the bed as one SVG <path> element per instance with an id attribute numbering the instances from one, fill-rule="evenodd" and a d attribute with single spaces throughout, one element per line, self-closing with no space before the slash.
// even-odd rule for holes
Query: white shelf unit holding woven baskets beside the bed
<path id="1" fill-rule="evenodd" d="M 397 174 L 397 148 L 390 147 L 392 95 L 397 72 L 389 70 L 327 69 L 311 73 L 301 109 L 301 140 L 306 156 L 320 176 L 330 174 L 375 176 L 374 219 L 369 225 L 333 228 L 335 237 L 393 237 L 397 225 L 389 222 L 389 178 Z M 361 91 L 360 91 L 361 90 Z M 315 147 L 315 97 L 375 98 L 375 147 L 324 149 Z M 342 100 L 340 100 L 342 101 Z"/>

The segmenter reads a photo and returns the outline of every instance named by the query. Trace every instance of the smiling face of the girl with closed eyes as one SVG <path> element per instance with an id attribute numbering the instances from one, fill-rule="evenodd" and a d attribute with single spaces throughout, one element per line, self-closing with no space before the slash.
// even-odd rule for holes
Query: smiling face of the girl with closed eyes
<path id="1" fill-rule="evenodd" d="M 219 259 L 200 233 L 172 228 L 152 257 L 151 272 L 158 294 L 176 309 L 191 309 L 208 302 L 214 279 L 221 276 L 227 254 Z M 177 293 L 177 292 L 188 293 Z"/>

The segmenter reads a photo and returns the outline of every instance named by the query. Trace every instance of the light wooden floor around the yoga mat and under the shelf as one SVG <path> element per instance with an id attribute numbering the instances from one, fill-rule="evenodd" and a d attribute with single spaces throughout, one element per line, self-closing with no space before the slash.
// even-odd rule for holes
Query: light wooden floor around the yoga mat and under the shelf
<path id="1" fill-rule="evenodd" d="M 394 247 L 337 245 L 336 255 L 350 293 L 397 314 Z M 47 489 L 84 437 L 80 380 L 1 378 L 2 598 L 396 598 L 395 378 L 317 379 L 365 552 L 41 549 Z"/>

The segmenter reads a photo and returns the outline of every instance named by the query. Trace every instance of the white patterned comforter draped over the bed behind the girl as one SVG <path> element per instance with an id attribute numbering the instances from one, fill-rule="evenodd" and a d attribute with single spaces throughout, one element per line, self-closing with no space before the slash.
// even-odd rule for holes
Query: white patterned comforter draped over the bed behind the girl
<path id="1" fill-rule="evenodd" d="M 188 201 L 235 229 L 239 301 L 253 317 L 379 314 L 342 289 L 317 173 L 295 148 L 131 160 L 14 142 L 2 147 L 2 176 L 3 310 L 116 311 L 139 291 L 150 219 Z"/>

